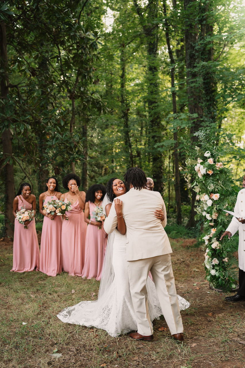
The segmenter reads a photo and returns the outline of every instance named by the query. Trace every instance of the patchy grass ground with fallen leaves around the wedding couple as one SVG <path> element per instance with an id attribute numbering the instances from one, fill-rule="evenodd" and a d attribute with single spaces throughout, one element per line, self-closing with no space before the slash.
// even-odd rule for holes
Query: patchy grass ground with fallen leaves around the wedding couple
<path id="1" fill-rule="evenodd" d="M 61 322 L 56 314 L 97 298 L 99 283 L 62 273 L 12 273 L 11 243 L 0 243 L 0 367 L 244 368 L 244 303 L 227 303 L 204 280 L 203 252 L 195 240 L 171 240 L 177 292 L 191 302 L 182 311 L 185 342 L 176 344 L 161 316 L 153 342 Z M 72 292 L 75 291 L 75 292 Z M 22 324 L 22 323 L 26 324 Z M 57 349 L 57 350 L 56 350 Z M 61 353 L 60 358 L 51 354 Z"/>

